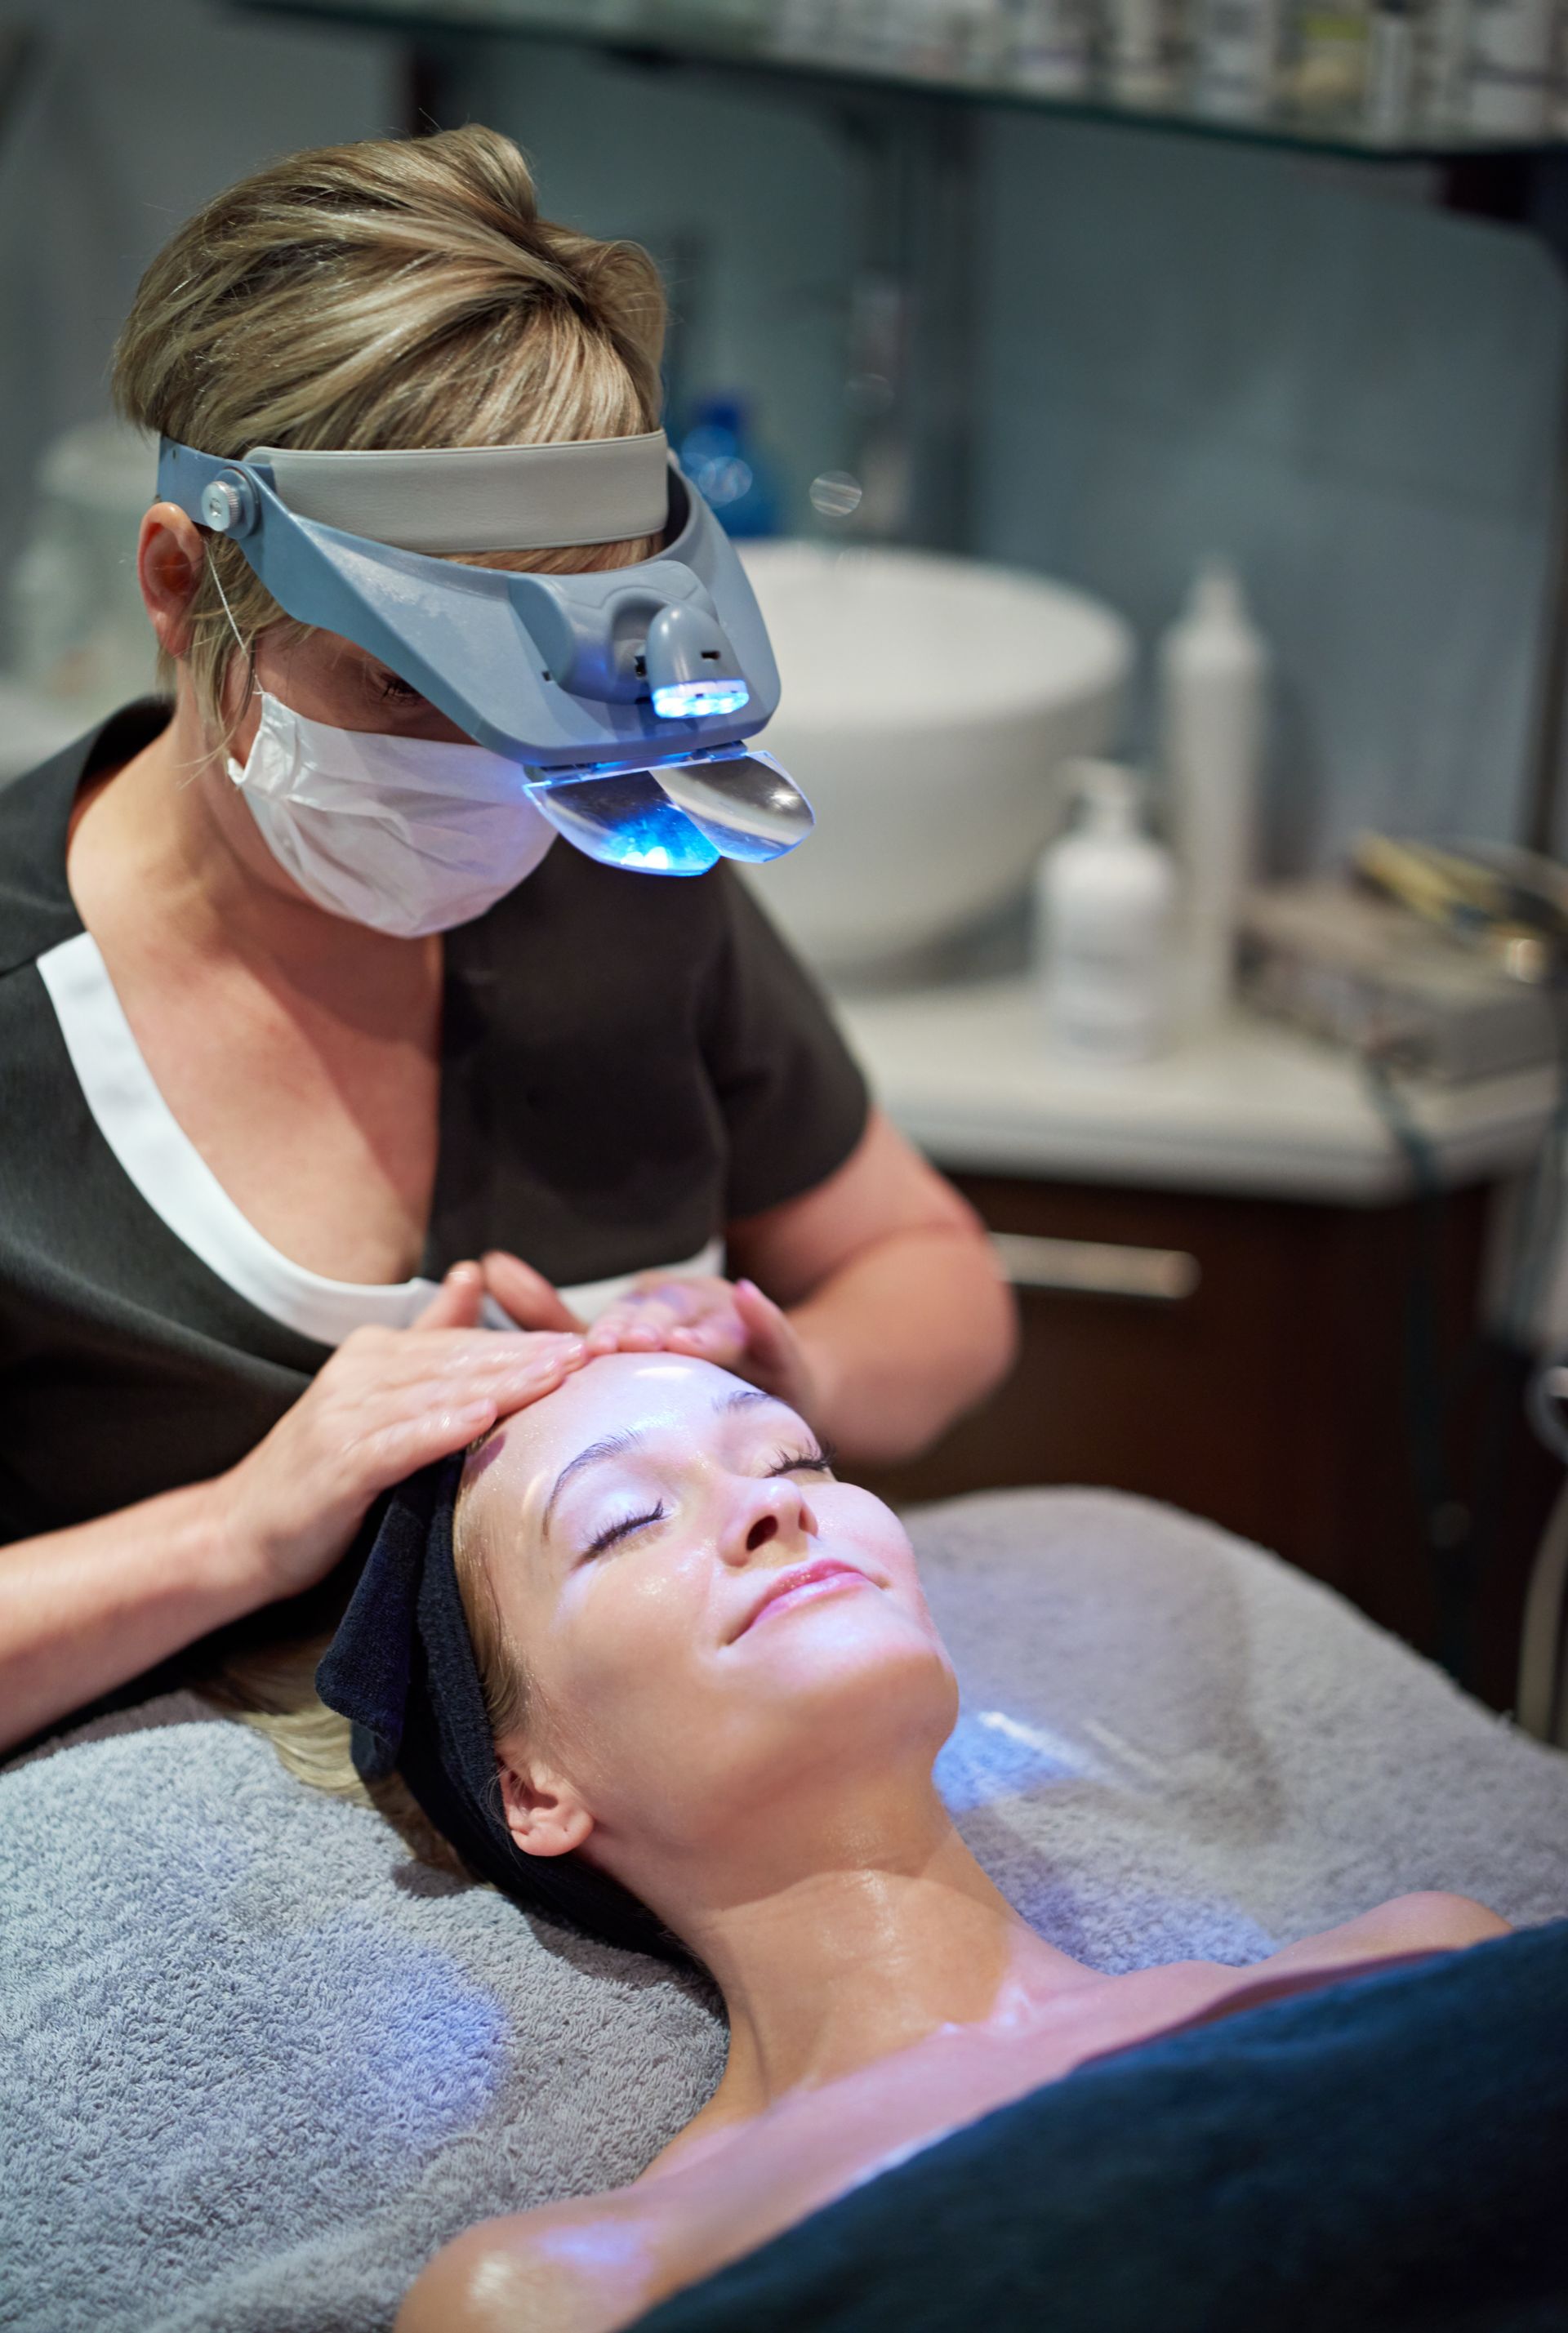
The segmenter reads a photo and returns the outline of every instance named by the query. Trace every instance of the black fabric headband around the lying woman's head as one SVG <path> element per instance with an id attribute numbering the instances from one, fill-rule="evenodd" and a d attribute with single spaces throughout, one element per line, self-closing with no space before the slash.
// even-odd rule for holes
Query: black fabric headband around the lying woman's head
<path id="1" fill-rule="evenodd" d="M 399 1773 L 469 1871 L 525 1911 L 663 1960 L 686 1957 L 618 1880 L 576 1855 L 523 1855 L 502 1815 L 495 1743 L 453 1568 L 462 1453 L 390 1493 L 315 1689 L 352 1722 L 366 1782 Z"/>

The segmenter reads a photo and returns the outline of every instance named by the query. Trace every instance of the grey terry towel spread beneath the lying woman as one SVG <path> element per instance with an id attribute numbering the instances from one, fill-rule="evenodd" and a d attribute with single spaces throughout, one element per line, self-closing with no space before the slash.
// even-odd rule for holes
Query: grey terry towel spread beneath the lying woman
<path id="1" fill-rule="evenodd" d="M 980 1859 L 1099 1967 L 1246 1962 L 1407 1887 L 1568 1911 L 1568 1759 L 1344 1603 L 1106 1493 L 915 1521 Z M 373 2333 L 439 2242 L 635 2177 L 700 1988 L 413 1864 L 224 1722 L 0 1778 L 0 2326 Z"/>

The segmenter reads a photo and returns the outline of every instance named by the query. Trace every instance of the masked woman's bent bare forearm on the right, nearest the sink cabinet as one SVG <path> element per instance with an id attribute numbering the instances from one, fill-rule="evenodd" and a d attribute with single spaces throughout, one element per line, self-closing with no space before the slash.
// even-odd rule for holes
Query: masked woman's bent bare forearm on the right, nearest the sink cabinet
<path id="1" fill-rule="evenodd" d="M 821 1430 L 845 1458 L 887 1465 L 971 1409 L 1017 1346 L 1013 1295 L 968 1225 L 896 1232 L 793 1306 L 821 1383 Z"/>

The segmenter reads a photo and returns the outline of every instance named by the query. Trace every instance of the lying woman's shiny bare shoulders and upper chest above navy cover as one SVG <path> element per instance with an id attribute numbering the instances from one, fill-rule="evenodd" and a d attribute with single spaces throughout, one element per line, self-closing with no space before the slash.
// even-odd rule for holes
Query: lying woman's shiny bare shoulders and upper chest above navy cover
<path id="1" fill-rule="evenodd" d="M 1092 2058 L 1400 1960 L 1482 1943 L 1507 1922 L 1454 1894 L 1398 1897 L 1251 1969 L 1174 1962 L 947 2025 L 749 2123 L 702 2116 L 632 2186 L 483 2221 L 425 2270 L 397 2333 L 614 2333 L 950 2130 Z"/>

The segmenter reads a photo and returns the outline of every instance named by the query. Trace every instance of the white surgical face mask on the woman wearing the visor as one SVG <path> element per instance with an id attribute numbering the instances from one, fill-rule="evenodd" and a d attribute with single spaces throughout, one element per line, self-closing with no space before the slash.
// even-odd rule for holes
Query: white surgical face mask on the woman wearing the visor
<path id="1" fill-rule="evenodd" d="M 450 931 L 495 908 L 555 840 L 502 754 L 338 730 L 259 695 L 257 742 L 229 777 L 278 866 L 331 915 L 399 940 Z"/>

